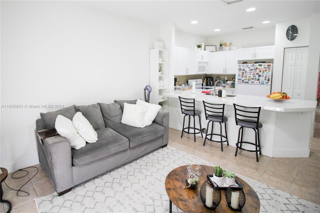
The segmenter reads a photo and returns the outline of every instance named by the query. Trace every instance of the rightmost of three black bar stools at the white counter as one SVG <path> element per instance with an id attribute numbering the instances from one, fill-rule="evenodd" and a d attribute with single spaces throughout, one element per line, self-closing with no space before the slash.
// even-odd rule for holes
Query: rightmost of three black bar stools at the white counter
<path id="1" fill-rule="evenodd" d="M 239 125 L 238 131 L 238 141 L 235 143 L 235 156 L 237 154 L 238 148 L 245 150 L 245 151 L 254 151 L 256 156 L 256 161 L 258 162 L 258 152 L 261 155 L 261 147 L 260 147 L 260 139 L 259 139 L 259 128 L 262 127 L 262 123 L 259 122 L 260 110 L 261 107 L 248 107 L 248 106 L 241 106 L 233 103 L 234 106 L 234 117 L 235 117 L 235 124 Z M 243 141 L 243 128 L 251 128 L 254 130 L 255 133 L 255 142 L 247 142 Z M 255 146 L 255 149 L 245 149 L 242 148 L 242 143 L 247 143 Z"/>

